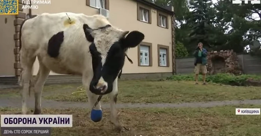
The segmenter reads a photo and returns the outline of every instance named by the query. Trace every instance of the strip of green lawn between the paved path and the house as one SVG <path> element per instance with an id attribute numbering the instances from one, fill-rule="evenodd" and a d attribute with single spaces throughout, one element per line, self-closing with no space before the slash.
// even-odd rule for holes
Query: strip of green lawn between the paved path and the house
<path id="1" fill-rule="evenodd" d="M 118 102 L 120 103 L 180 103 L 218 100 L 261 99 L 261 87 L 238 87 L 221 84 L 195 85 L 193 81 L 148 81 L 119 80 Z M 44 87 L 43 97 L 57 101 L 86 102 L 86 92 L 77 89 L 81 84 L 48 85 Z M 0 91 L 5 95 L 19 96 L 16 91 Z M 73 93 L 73 94 L 72 94 Z M 34 96 L 34 95 L 32 95 Z M 104 96 L 103 102 L 109 98 Z"/>

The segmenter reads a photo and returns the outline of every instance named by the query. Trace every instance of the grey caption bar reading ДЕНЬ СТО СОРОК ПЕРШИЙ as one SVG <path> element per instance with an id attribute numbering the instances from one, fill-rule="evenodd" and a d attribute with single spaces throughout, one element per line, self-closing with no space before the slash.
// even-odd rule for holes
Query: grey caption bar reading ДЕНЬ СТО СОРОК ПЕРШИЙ
<path id="1" fill-rule="evenodd" d="M 51 136 L 49 127 L 1 127 L 1 136 Z"/>

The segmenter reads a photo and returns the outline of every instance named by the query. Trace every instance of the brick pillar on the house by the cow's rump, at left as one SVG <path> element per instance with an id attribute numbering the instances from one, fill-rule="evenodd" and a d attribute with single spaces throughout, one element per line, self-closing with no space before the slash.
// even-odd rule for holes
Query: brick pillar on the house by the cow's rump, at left
<path id="1" fill-rule="evenodd" d="M 14 46 L 14 70 L 15 70 L 15 75 L 20 76 L 21 74 L 21 64 L 20 64 L 20 54 L 19 54 L 19 31 L 20 31 L 20 26 L 21 23 L 23 22 L 24 19 L 26 19 L 26 13 L 23 12 L 22 9 L 22 1 L 19 0 L 19 14 L 14 15 L 14 41 L 15 41 L 15 46 Z"/>

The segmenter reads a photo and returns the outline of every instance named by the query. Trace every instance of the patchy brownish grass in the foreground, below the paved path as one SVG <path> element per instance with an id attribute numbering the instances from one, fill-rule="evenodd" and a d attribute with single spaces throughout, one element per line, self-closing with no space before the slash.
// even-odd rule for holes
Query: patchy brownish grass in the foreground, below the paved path
<path id="1" fill-rule="evenodd" d="M 261 115 L 235 115 L 235 108 L 260 108 L 261 105 L 213 108 L 119 109 L 122 123 L 131 131 L 123 136 L 260 136 Z M 20 109 L 0 108 L 1 114 Z M 73 114 L 72 128 L 52 128 L 52 136 L 118 136 L 104 109 L 101 122 L 92 122 L 87 109 L 43 109 L 43 114 Z"/>

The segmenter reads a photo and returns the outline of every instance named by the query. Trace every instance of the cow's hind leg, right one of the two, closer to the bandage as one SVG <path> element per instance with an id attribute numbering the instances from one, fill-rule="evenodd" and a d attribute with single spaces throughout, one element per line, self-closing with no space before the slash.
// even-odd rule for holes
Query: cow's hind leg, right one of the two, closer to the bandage
<path id="1" fill-rule="evenodd" d="M 44 87 L 44 83 L 50 73 L 50 70 L 44 66 L 44 64 L 41 62 L 41 59 L 38 58 L 38 60 L 39 60 L 39 70 L 37 73 L 37 78 L 36 78 L 35 87 L 34 87 L 34 89 L 35 89 L 35 112 L 34 112 L 34 114 L 41 113 L 42 90 Z"/>

